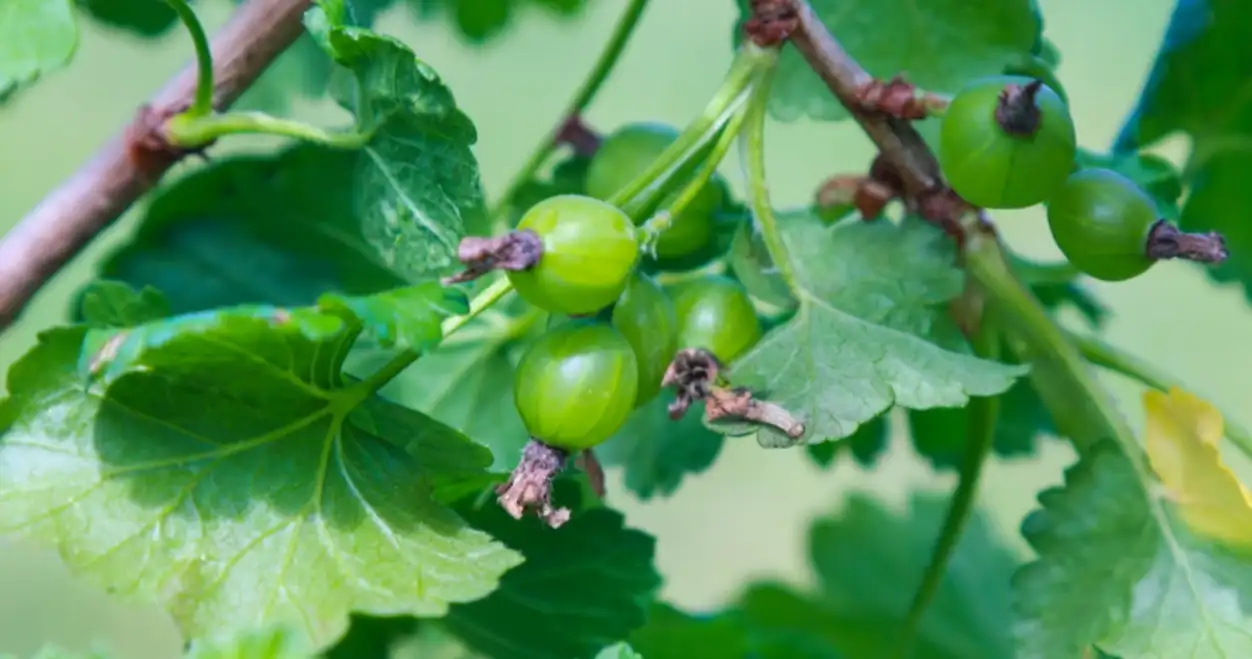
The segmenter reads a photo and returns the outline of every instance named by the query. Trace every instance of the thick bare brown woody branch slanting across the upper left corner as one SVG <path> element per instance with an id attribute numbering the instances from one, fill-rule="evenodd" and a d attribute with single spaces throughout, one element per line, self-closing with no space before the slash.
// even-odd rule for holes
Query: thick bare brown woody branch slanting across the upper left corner
<path id="1" fill-rule="evenodd" d="M 233 104 L 303 31 L 310 0 L 249 0 L 212 43 L 213 106 Z M 194 63 L 184 68 L 21 223 L 0 239 L 0 331 L 101 231 L 185 155 L 160 135 L 164 119 L 195 95 Z"/>

